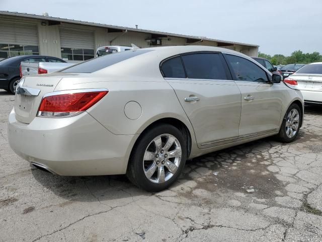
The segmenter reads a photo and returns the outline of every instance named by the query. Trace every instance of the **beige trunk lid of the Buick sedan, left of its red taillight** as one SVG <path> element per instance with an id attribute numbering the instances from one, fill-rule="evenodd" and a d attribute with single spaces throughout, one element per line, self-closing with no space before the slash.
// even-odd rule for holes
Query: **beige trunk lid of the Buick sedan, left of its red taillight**
<path id="1" fill-rule="evenodd" d="M 65 76 L 70 76 L 70 74 L 53 73 L 23 77 L 22 80 L 24 81 L 18 85 L 22 88 L 32 88 L 36 94 L 38 92 L 39 94 L 25 95 L 16 93 L 14 106 L 16 119 L 22 123 L 30 124 L 37 115 L 42 97 L 48 92 L 53 92 L 60 80 Z"/>

